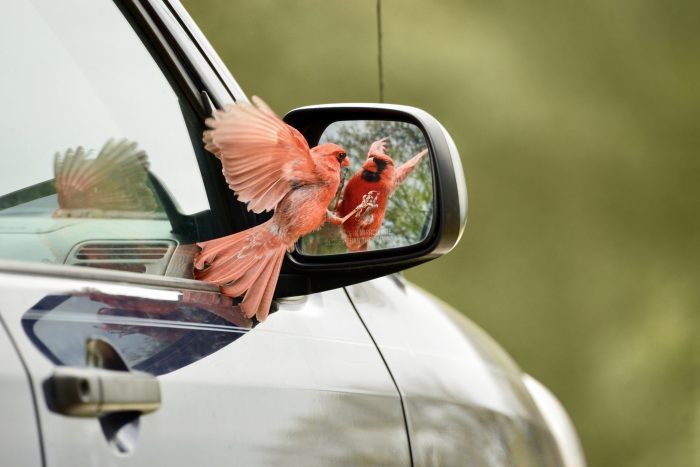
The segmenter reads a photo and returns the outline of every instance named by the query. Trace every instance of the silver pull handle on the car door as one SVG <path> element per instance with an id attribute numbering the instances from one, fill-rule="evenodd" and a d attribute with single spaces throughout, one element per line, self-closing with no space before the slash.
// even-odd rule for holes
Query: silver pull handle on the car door
<path id="1" fill-rule="evenodd" d="M 74 417 L 149 413 L 160 407 L 160 385 L 141 371 L 58 367 L 48 379 L 52 410 Z"/>

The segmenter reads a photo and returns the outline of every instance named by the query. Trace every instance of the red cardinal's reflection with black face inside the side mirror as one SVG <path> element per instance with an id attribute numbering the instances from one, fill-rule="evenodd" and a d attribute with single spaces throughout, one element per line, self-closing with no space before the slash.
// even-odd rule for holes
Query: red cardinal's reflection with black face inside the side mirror
<path id="1" fill-rule="evenodd" d="M 372 143 L 367 161 L 348 181 L 343 200 L 336 208 L 339 216 L 356 212 L 343 224 L 343 238 L 350 251 L 367 250 L 367 243 L 382 226 L 389 197 L 428 152 L 427 149 L 419 152 L 395 169 L 394 161 L 386 155 L 386 148 L 387 138 Z M 352 211 L 352 206 L 357 208 Z"/>

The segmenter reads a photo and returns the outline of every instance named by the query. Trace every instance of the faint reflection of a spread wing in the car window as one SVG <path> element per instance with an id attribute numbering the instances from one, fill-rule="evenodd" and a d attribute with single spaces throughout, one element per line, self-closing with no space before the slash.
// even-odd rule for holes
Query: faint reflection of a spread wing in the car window
<path id="1" fill-rule="evenodd" d="M 54 183 L 61 209 L 156 209 L 155 197 L 147 186 L 148 159 L 136 143 L 110 139 L 97 157 L 89 156 L 82 146 L 54 156 Z"/>

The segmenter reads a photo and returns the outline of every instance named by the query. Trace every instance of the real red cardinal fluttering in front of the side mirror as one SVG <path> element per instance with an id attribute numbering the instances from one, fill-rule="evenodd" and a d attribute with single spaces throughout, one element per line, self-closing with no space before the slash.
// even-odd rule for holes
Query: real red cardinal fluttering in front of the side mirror
<path id="1" fill-rule="evenodd" d="M 326 220 L 344 221 L 328 212 L 328 205 L 338 189 L 340 168 L 350 163 L 336 144 L 310 149 L 301 133 L 262 99 L 252 101 L 254 105 L 238 103 L 214 112 L 206 121 L 211 129 L 204 132 L 204 142 L 221 160 L 238 199 L 253 212 L 275 213 L 259 226 L 197 243 L 201 251 L 194 258 L 194 276 L 217 284 L 230 297 L 245 293 L 245 315 L 264 321 L 285 250 Z"/>

